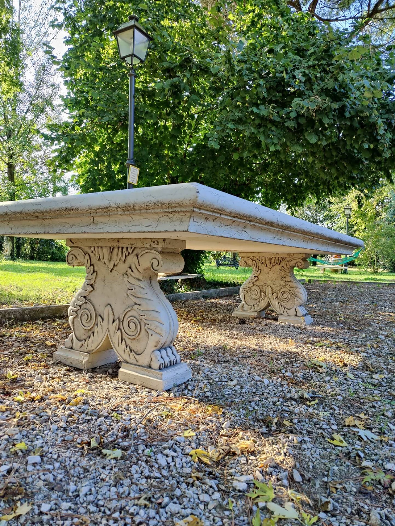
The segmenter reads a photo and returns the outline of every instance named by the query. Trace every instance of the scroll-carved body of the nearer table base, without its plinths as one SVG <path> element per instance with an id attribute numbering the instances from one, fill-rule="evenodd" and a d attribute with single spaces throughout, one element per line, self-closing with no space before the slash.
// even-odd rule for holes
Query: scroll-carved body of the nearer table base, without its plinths
<path id="1" fill-rule="evenodd" d="M 180 362 L 172 346 L 178 320 L 158 284 L 158 251 L 72 247 L 67 262 L 84 265 L 87 274 L 68 310 L 72 333 L 66 348 L 91 353 L 108 348 L 109 340 L 128 363 L 163 369 Z"/>

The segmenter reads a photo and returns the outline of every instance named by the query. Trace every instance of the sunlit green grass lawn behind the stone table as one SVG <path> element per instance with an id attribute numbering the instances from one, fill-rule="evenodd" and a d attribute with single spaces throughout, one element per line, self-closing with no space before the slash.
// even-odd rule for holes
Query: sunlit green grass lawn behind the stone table
<path id="1" fill-rule="evenodd" d="M 213 263 L 206 265 L 203 273 L 210 286 L 226 287 L 241 285 L 250 276 L 251 269 L 216 269 Z M 306 279 L 395 282 L 394 273 L 372 274 L 359 269 L 342 275 L 332 274 L 328 270 L 325 274 L 320 274 L 319 269 L 310 267 L 306 270 L 296 270 L 295 274 L 298 278 Z M 0 260 L 0 307 L 67 304 L 82 285 L 84 277 L 84 267 L 72 268 L 66 263 Z"/>

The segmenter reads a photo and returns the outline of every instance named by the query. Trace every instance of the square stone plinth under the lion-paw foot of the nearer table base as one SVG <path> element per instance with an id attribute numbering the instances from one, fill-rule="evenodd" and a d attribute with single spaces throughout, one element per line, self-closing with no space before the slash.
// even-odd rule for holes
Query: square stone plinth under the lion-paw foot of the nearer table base
<path id="1" fill-rule="evenodd" d="M 192 376 L 191 369 L 186 363 L 178 363 L 165 369 L 157 370 L 122 362 L 118 378 L 126 382 L 136 383 L 155 391 L 166 391 L 173 386 L 184 383 Z"/>

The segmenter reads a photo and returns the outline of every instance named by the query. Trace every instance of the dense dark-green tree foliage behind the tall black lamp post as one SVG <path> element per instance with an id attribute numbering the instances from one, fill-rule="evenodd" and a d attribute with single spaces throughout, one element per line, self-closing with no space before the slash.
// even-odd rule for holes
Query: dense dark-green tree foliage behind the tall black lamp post
<path id="1" fill-rule="evenodd" d="M 111 32 L 130 11 L 153 36 L 136 85 L 139 186 L 197 181 L 298 206 L 390 177 L 394 59 L 281 3 L 58 0 L 69 119 L 58 170 L 82 191 L 126 186 L 128 76 Z"/>

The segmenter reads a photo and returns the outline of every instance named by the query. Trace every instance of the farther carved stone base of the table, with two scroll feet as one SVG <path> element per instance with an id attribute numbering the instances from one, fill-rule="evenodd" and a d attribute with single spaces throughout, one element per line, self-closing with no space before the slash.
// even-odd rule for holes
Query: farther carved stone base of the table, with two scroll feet
<path id="1" fill-rule="evenodd" d="M 241 254 L 240 266 L 252 267 L 251 276 L 240 287 L 241 304 L 233 312 L 240 318 L 265 317 L 271 307 L 278 321 L 309 325 L 313 319 L 303 306 L 304 286 L 294 276 L 294 268 L 308 268 L 309 254 Z"/>

